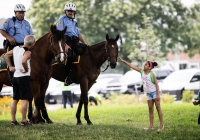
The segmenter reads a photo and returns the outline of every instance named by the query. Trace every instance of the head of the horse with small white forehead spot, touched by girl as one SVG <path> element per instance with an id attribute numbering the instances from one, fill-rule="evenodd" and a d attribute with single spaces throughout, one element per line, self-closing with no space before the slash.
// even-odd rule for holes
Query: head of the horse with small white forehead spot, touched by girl
<path id="1" fill-rule="evenodd" d="M 117 57 L 118 57 L 118 45 L 117 40 L 119 39 L 119 35 L 116 36 L 115 39 L 109 38 L 108 34 L 106 35 L 106 45 L 105 49 L 108 55 L 108 60 L 110 61 L 110 67 L 113 69 L 117 65 Z"/>

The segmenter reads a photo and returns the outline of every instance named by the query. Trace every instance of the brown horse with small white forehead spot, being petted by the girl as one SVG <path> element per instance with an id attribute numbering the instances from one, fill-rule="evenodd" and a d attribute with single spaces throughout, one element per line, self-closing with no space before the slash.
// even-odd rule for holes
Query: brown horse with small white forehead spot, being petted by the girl
<path id="1" fill-rule="evenodd" d="M 116 67 L 118 57 L 118 39 L 119 35 L 117 35 L 115 39 L 111 39 L 106 35 L 106 41 L 88 47 L 85 53 L 80 57 L 80 62 L 72 66 L 70 77 L 74 83 L 80 84 L 81 88 L 81 97 L 76 113 L 78 125 L 82 124 L 80 115 L 83 104 L 84 118 L 87 121 L 87 124 L 92 124 L 88 115 L 88 91 L 99 76 L 100 67 L 106 60 L 110 62 L 111 68 Z M 64 68 L 62 66 L 54 65 L 52 77 L 64 82 Z M 46 110 L 42 110 L 42 112 L 45 111 Z"/>

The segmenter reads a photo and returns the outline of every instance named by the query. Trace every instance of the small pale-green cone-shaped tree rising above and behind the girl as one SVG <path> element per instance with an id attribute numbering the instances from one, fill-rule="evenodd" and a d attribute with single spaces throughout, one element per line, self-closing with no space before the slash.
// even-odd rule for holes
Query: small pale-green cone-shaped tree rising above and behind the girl
<path id="1" fill-rule="evenodd" d="M 142 13 L 142 24 L 144 28 L 139 28 L 134 43 L 134 52 L 128 56 L 133 63 L 142 67 L 147 60 L 161 61 L 164 53 L 161 52 L 160 40 L 152 29 L 150 18 Z"/>

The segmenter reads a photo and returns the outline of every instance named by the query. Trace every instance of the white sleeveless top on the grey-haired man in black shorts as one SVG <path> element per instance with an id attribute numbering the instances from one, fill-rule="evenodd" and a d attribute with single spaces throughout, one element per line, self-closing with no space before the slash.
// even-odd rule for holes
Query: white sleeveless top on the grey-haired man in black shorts
<path id="1" fill-rule="evenodd" d="M 30 59 L 27 61 L 28 63 L 28 72 L 22 73 L 20 72 L 20 69 L 24 69 L 22 66 L 22 58 L 24 56 L 25 49 L 20 48 L 19 46 L 14 47 L 13 49 L 13 59 L 15 64 L 15 72 L 14 77 L 22 77 L 22 76 L 30 76 Z"/>

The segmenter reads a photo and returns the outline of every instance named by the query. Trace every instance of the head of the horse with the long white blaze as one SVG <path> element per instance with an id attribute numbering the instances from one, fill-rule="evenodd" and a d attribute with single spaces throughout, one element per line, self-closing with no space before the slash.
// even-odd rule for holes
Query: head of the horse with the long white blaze
<path id="1" fill-rule="evenodd" d="M 51 25 L 50 46 L 53 50 L 55 60 L 60 63 L 65 61 L 65 34 L 66 28 L 62 31 L 57 30 L 55 25 Z"/>

